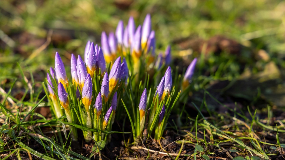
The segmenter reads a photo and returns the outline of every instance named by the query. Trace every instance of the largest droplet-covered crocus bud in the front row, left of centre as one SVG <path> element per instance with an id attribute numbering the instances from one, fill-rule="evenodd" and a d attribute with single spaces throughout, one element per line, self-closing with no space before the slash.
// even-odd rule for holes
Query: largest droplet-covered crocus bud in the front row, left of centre
<path id="1" fill-rule="evenodd" d="M 89 111 L 89 105 L 92 101 L 92 81 L 90 74 L 87 75 L 82 89 L 82 103 L 85 106 L 85 111 Z"/>

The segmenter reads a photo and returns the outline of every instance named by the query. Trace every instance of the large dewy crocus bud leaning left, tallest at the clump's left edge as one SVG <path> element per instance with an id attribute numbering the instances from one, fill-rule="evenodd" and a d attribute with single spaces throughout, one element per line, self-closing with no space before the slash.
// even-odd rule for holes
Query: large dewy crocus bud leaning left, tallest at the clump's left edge
<path id="1" fill-rule="evenodd" d="M 56 52 L 56 58 L 54 62 L 55 62 L 56 78 L 58 79 L 58 83 L 63 84 L 64 88 L 66 89 L 66 86 L 68 86 L 68 79 L 66 76 L 64 64 L 58 52 Z"/>

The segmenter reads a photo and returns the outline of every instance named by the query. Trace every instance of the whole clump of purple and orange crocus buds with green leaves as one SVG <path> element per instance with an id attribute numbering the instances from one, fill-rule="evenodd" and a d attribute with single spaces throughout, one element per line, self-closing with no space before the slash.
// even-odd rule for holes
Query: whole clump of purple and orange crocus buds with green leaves
<path id="1" fill-rule="evenodd" d="M 172 78 L 177 77 L 170 67 L 171 47 L 167 46 L 164 54 L 156 54 L 151 15 L 146 15 L 138 27 L 130 17 L 126 26 L 119 21 L 115 33 L 103 31 L 101 46 L 88 41 L 83 59 L 71 54 L 70 80 L 56 52 L 55 71 L 50 68 L 47 73 L 46 91 L 55 117 L 62 120 L 66 116 L 70 124 L 82 126 L 86 141 L 107 141 L 110 137 L 106 133 L 124 115 L 129 117 L 134 141 L 153 133 L 159 139 L 172 109 L 177 107 L 181 91 L 175 91 L 175 85 L 183 90 L 189 86 L 196 61 L 189 65 L 184 78 L 173 84 Z M 73 132 L 76 140 L 76 129 Z"/>

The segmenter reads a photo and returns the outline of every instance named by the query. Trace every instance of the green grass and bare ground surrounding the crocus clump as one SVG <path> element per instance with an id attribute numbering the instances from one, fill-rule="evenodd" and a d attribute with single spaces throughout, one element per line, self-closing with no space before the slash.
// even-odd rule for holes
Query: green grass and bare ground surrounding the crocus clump
<path id="1" fill-rule="evenodd" d="M 129 134 L 121 133 L 131 131 L 130 124 L 118 123 L 119 129 L 112 133 L 123 137 L 124 145 L 116 145 L 121 149 L 113 157 L 146 158 L 159 151 L 164 153 L 155 153 L 154 158 L 285 158 L 283 1 L 143 0 L 127 9 L 122 9 L 127 3 L 119 3 L 0 1 L 1 159 L 107 159 L 113 146 L 104 145 L 100 151 L 104 146 L 99 142 L 73 143 L 65 126 L 84 127 L 46 119 L 37 111 L 49 107 L 42 81 L 54 65 L 56 51 L 68 62 L 71 53 L 83 54 L 87 39 L 99 43 L 101 31 L 114 30 L 129 15 L 136 24 L 142 23 L 146 13 L 152 15 L 158 51 L 172 44 L 173 57 L 181 58 L 177 71 L 185 71 L 183 64 L 192 57 L 200 61 L 190 97 L 181 95 L 181 107 L 172 110 L 162 138 L 167 143 L 150 139 L 133 146 Z M 243 47 L 238 54 L 227 50 L 213 54 L 207 46 L 198 52 L 176 42 L 215 35 L 234 39 Z M 71 77 L 70 71 L 66 73 Z M 174 140 L 177 147 L 164 148 Z"/>

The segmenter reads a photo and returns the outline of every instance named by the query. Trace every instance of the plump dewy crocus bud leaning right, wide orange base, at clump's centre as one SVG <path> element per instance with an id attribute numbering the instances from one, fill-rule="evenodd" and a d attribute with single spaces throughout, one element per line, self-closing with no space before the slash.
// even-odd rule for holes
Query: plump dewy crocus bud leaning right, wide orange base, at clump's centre
<path id="1" fill-rule="evenodd" d="M 109 91 L 112 93 L 113 89 L 116 87 L 118 81 L 119 81 L 119 76 L 121 72 L 121 57 L 118 57 L 110 71 L 110 82 L 109 82 Z"/>

